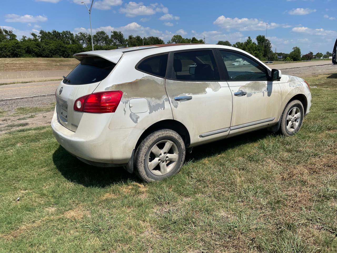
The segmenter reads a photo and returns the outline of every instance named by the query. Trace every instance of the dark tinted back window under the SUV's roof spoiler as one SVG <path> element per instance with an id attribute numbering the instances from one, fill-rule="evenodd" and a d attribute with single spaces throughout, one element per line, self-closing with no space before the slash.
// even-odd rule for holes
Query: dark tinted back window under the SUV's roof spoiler
<path id="1" fill-rule="evenodd" d="M 115 66 L 115 63 L 101 57 L 85 57 L 63 83 L 72 85 L 96 83 L 106 78 Z"/>

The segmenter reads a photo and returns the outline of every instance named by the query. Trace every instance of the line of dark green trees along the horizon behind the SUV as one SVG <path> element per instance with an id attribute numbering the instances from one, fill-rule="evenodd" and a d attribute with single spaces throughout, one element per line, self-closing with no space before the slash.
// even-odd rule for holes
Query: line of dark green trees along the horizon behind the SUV
<path id="1" fill-rule="evenodd" d="M 22 36 L 17 39 L 17 35 L 11 30 L 0 28 L 0 58 L 15 57 L 47 57 L 47 58 L 71 58 L 73 54 L 91 51 L 91 35 L 87 32 L 79 32 L 73 34 L 70 31 L 44 31 L 40 30 L 39 34 L 31 33 L 31 37 Z M 105 31 L 97 31 L 93 34 L 94 50 L 111 50 L 117 47 L 136 47 L 143 45 L 164 44 L 159 37 L 148 36 L 141 37 L 139 35 L 129 35 L 124 37 L 121 31 L 112 31 L 110 34 Z M 203 39 L 184 38 L 181 35 L 173 35 L 167 43 L 200 43 L 204 44 Z M 329 58 L 331 53 L 312 52 L 302 55 L 299 47 L 294 47 L 293 51 L 287 53 L 274 53 L 272 51 L 271 42 L 264 35 L 258 35 L 256 42 L 251 37 L 244 42 L 234 44 L 229 41 L 219 40 L 218 45 L 232 46 L 242 49 L 256 58 L 264 60 L 275 60 L 276 55 L 281 56 L 283 60 L 300 61 L 311 60 L 313 58 Z"/>

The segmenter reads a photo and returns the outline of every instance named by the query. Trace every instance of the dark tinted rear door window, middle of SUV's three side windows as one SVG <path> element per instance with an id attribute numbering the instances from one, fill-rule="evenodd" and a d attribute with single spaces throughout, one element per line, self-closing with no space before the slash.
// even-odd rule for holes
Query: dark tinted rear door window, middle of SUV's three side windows
<path id="1" fill-rule="evenodd" d="M 220 80 L 211 50 L 174 53 L 173 58 L 173 79 L 182 81 Z"/>

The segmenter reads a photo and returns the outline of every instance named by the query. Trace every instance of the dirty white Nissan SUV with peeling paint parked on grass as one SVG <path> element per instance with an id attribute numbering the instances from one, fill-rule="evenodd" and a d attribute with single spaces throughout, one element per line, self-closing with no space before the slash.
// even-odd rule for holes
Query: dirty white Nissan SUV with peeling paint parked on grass
<path id="1" fill-rule="evenodd" d="M 81 161 L 144 181 L 176 174 L 186 149 L 269 128 L 291 136 L 309 85 L 221 45 L 163 44 L 75 54 L 56 90 L 52 129 Z M 247 64 L 233 65 L 237 60 Z"/>

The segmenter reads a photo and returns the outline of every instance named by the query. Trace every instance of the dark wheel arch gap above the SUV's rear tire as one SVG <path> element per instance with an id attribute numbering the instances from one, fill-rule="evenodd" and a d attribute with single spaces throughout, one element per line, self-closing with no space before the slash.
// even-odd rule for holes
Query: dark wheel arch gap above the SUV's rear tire
<path id="1" fill-rule="evenodd" d="M 186 126 L 174 119 L 164 119 L 164 120 L 160 120 L 152 125 L 150 125 L 143 133 L 142 135 L 139 137 L 137 143 L 136 143 L 136 147 L 137 148 L 139 146 L 139 144 L 142 142 L 142 140 L 148 136 L 150 133 L 157 131 L 159 129 L 171 129 L 173 131 L 176 131 L 181 138 L 184 140 L 185 146 L 188 147 L 190 144 L 190 135 L 189 132 L 186 128 Z"/>

